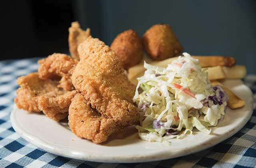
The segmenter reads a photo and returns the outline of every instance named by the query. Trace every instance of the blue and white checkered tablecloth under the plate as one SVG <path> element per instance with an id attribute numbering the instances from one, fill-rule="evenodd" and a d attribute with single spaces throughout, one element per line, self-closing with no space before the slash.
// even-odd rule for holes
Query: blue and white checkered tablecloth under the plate
<path id="1" fill-rule="evenodd" d="M 50 154 L 21 138 L 12 128 L 10 112 L 16 96 L 16 79 L 38 69 L 38 58 L 0 62 L 0 168 L 38 167 L 255 167 L 256 166 L 256 76 L 244 79 L 254 93 L 250 121 L 234 136 L 201 152 L 158 162 L 116 164 L 74 160 Z"/>

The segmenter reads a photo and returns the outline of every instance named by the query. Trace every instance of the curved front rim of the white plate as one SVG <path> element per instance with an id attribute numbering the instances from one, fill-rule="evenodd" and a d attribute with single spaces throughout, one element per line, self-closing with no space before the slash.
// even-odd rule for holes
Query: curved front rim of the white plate
<path id="1" fill-rule="evenodd" d="M 138 163 L 138 162 L 152 162 L 152 161 L 160 161 L 160 160 L 166 160 L 166 159 L 171 159 L 171 158 L 177 158 L 180 156 L 186 156 L 189 154 L 193 154 L 202 150 L 205 150 L 207 148 L 210 148 L 228 138 L 230 138 L 231 136 L 233 136 L 234 134 L 236 134 L 239 130 L 241 130 L 244 125 L 250 120 L 251 116 L 252 116 L 252 112 L 253 112 L 253 98 L 252 98 L 252 91 L 250 90 L 250 88 L 248 88 L 248 86 L 246 86 L 244 83 L 243 85 L 246 87 L 246 89 L 248 91 L 250 91 L 250 99 L 248 100 L 249 106 L 250 106 L 250 114 L 248 114 L 248 116 L 246 116 L 246 118 L 244 118 L 243 120 L 243 124 L 240 125 L 240 127 L 238 129 L 236 129 L 235 131 L 230 131 L 230 134 L 227 134 L 227 136 L 221 136 L 218 137 L 220 138 L 219 141 L 215 141 L 214 143 L 205 145 L 202 148 L 198 148 L 198 149 L 193 149 L 191 148 L 188 152 L 186 152 L 185 154 L 180 152 L 179 154 L 176 154 L 175 157 L 168 157 L 168 154 L 166 153 L 162 153 L 161 156 L 158 155 L 158 157 L 154 157 L 154 156 L 129 156 L 129 155 L 124 155 L 124 156 L 115 156 L 114 158 L 112 156 L 108 157 L 108 156 L 104 156 L 103 155 L 99 155 L 96 153 L 86 153 L 83 152 L 83 155 L 81 156 L 80 154 L 74 154 L 74 152 L 72 152 L 72 150 L 70 150 L 67 147 L 64 146 L 60 146 L 58 144 L 51 144 L 49 142 L 46 142 L 44 140 L 42 140 L 40 137 L 31 134 L 30 132 L 24 130 L 24 128 L 22 128 L 22 126 L 19 125 L 18 122 L 16 122 L 16 116 L 15 113 L 17 110 L 20 110 L 16 107 L 16 105 L 14 104 L 14 108 L 10 114 L 10 121 L 12 123 L 12 127 L 14 128 L 14 130 L 22 137 L 24 138 L 26 141 L 28 141 L 29 143 L 37 146 L 38 148 L 41 148 L 43 150 L 45 150 L 46 152 L 50 152 L 52 154 L 56 154 L 59 156 L 64 156 L 67 158 L 72 158 L 72 159 L 78 159 L 78 160 L 86 160 L 86 161 L 91 161 L 91 162 L 105 162 L 105 163 Z M 216 138 L 216 137 L 215 137 Z M 54 147 L 52 147 L 54 146 Z M 65 151 L 65 152 L 64 152 Z M 82 152 L 82 150 L 81 150 Z"/>

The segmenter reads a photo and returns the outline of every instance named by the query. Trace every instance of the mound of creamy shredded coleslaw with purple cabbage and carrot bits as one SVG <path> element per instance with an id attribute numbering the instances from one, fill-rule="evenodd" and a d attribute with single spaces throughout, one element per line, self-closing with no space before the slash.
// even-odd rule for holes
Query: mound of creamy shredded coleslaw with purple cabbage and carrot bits
<path id="1" fill-rule="evenodd" d="M 144 62 L 133 101 L 138 106 L 142 140 L 166 142 L 192 135 L 193 128 L 210 134 L 222 120 L 228 96 L 221 86 L 211 86 L 199 61 L 183 53 L 167 68 Z"/>

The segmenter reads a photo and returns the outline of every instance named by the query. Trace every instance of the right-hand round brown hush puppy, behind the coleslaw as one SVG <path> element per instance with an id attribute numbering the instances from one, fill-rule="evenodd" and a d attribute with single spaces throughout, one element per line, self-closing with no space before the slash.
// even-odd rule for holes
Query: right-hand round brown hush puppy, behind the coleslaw
<path id="1" fill-rule="evenodd" d="M 143 36 L 146 52 L 155 60 L 177 56 L 183 50 L 178 38 L 168 24 L 155 24 Z"/>

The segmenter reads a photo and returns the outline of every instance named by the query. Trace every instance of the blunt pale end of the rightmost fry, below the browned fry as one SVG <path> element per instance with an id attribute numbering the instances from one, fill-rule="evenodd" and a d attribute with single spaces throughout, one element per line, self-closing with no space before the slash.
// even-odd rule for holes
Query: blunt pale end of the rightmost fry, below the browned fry
<path id="1" fill-rule="evenodd" d="M 235 65 L 232 67 L 222 67 L 227 78 L 244 78 L 246 76 L 246 67 L 244 65 Z"/>

